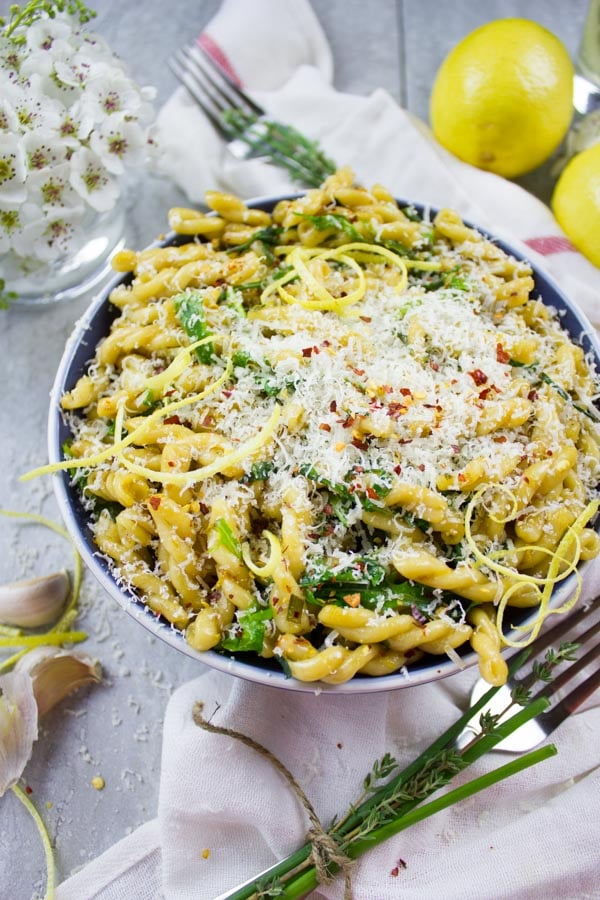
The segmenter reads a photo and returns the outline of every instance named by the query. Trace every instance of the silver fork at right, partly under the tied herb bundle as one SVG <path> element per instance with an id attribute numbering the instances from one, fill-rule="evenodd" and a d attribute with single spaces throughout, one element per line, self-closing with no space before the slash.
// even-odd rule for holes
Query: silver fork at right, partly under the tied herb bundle
<path id="1" fill-rule="evenodd" d="M 590 644 L 600 632 L 600 598 L 595 597 L 589 604 L 582 606 L 572 613 L 566 621 L 559 621 L 553 628 L 543 632 L 528 648 L 529 658 L 533 661 L 531 671 L 524 676 L 515 676 L 494 695 L 490 703 L 486 704 L 465 727 L 458 736 L 456 746 L 458 749 L 466 746 L 473 736 L 480 731 L 479 720 L 482 713 L 489 712 L 492 715 L 502 713 L 511 705 L 511 697 L 515 689 L 530 691 L 536 681 L 536 672 L 539 671 L 539 656 L 548 651 L 552 645 L 564 642 L 571 635 L 572 642 L 582 648 Z M 584 630 L 581 630 L 581 629 Z M 583 680 L 579 679 L 577 686 L 565 694 L 563 688 L 582 672 L 589 670 L 593 663 L 600 657 L 600 642 L 592 645 L 586 653 L 564 667 L 552 680 L 539 688 L 531 695 L 531 699 L 538 697 L 556 698 L 545 713 L 522 725 L 509 737 L 505 738 L 494 747 L 495 750 L 503 750 L 508 753 L 525 753 L 541 744 L 549 734 L 574 713 L 600 687 L 600 667 L 590 671 Z M 514 659 L 514 657 L 513 657 Z M 510 665 L 510 660 L 509 660 Z M 471 692 L 471 705 L 475 704 L 489 690 L 489 684 L 479 679 Z M 518 707 L 517 707 L 518 709 Z M 514 715 L 512 708 L 500 721 L 504 721 Z"/>

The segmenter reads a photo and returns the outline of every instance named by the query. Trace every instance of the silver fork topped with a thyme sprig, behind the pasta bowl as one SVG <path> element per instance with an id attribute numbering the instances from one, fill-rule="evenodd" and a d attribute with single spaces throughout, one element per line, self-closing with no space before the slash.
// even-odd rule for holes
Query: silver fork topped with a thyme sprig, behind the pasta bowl
<path id="1" fill-rule="evenodd" d="M 169 66 L 236 159 L 266 159 L 306 187 L 318 187 L 335 171 L 316 141 L 269 119 L 200 44 L 178 50 Z"/>

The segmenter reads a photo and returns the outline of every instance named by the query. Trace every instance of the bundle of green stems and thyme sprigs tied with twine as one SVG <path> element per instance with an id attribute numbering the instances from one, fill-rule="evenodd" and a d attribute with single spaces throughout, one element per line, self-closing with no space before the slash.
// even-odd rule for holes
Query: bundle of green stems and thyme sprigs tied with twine
<path id="1" fill-rule="evenodd" d="M 557 650 L 549 649 L 542 661 L 533 663 L 531 673 L 516 682 L 515 673 L 525 665 L 531 652 L 523 651 L 509 666 L 509 678 L 516 686 L 500 712 L 486 711 L 500 690 L 492 687 L 406 768 L 401 769 L 390 753 L 376 760 L 364 778 L 360 797 L 328 830 L 345 856 L 356 859 L 416 822 L 555 755 L 557 750 L 553 744 L 544 745 L 430 799 L 473 762 L 549 707 L 544 690 L 532 698 L 531 688 L 536 682 L 550 682 L 557 665 L 573 660 L 577 646 L 564 643 Z M 479 713 L 479 730 L 458 749 L 458 736 Z M 307 842 L 263 876 L 227 894 L 228 900 L 295 900 L 306 896 L 318 886 L 316 869 L 310 860 L 311 850 Z M 335 863 L 327 868 L 330 875 L 339 871 Z"/>

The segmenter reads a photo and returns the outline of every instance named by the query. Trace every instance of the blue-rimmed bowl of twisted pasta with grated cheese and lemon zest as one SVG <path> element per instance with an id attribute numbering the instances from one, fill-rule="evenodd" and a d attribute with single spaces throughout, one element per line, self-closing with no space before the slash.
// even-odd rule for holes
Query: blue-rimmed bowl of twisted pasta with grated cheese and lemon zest
<path id="1" fill-rule="evenodd" d="M 206 199 L 117 254 L 57 373 L 43 471 L 87 565 L 255 682 L 502 683 L 600 551 L 592 327 L 501 240 L 347 170 Z"/>

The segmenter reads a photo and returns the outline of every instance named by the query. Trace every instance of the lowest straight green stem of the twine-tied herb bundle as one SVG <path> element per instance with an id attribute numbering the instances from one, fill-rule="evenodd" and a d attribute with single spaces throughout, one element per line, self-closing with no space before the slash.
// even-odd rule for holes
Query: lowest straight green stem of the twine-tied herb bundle
<path id="1" fill-rule="evenodd" d="M 383 841 L 399 834 L 399 832 L 404 831 L 406 828 L 410 828 L 412 825 L 416 825 L 417 822 L 421 822 L 423 819 L 427 819 L 455 803 L 466 800 L 468 797 L 472 797 L 474 794 L 479 793 L 479 791 L 483 791 L 506 778 L 510 778 L 512 775 L 516 775 L 524 769 L 528 769 L 530 766 L 534 766 L 545 759 L 549 759 L 551 756 L 555 756 L 556 753 L 557 749 L 554 744 L 546 744 L 544 747 L 531 751 L 531 753 L 526 753 L 518 759 L 500 766 L 493 772 L 488 772 L 486 775 L 480 775 L 478 778 L 474 778 L 472 781 L 461 785 L 455 790 L 448 791 L 448 793 L 444 794 L 442 797 L 438 797 L 436 800 L 432 800 L 429 803 L 420 806 L 418 809 L 398 817 L 387 825 L 382 825 L 361 840 L 357 840 L 347 847 L 346 853 L 351 859 L 356 859 L 368 850 L 372 850 L 373 847 L 376 847 Z M 332 869 L 334 869 L 333 866 Z M 283 892 L 279 896 L 285 898 L 285 900 L 295 900 L 295 898 L 306 896 L 309 891 L 317 886 L 316 870 L 314 867 L 311 867 L 308 871 L 293 876 L 291 881 L 285 885 Z M 231 896 L 233 900 L 235 895 L 232 894 Z"/>

